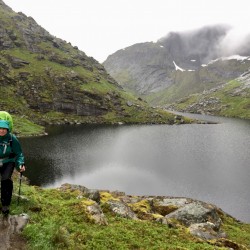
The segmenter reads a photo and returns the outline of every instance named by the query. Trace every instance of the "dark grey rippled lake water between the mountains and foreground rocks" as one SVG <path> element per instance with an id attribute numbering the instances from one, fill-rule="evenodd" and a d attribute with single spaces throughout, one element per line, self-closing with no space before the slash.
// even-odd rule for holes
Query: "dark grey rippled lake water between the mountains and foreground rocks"
<path id="1" fill-rule="evenodd" d="M 75 125 L 22 138 L 31 184 L 72 183 L 132 195 L 190 197 L 250 222 L 250 121 Z"/>

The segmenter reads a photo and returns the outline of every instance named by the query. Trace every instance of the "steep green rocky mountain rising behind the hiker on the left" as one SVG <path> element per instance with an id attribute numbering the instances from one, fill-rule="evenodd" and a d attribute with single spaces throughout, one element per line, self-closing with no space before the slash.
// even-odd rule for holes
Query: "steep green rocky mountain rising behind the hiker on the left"
<path id="1" fill-rule="evenodd" d="M 17 130 L 50 123 L 169 123 L 173 118 L 124 91 L 94 58 L 2 0 L 0 73 L 0 109 L 16 116 Z"/>

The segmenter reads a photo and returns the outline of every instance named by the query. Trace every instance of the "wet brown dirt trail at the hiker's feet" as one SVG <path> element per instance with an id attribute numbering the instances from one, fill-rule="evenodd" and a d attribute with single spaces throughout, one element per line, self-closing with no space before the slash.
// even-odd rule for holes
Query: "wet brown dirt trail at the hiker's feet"
<path id="1" fill-rule="evenodd" d="M 28 223 L 28 216 L 9 215 L 0 217 L 0 250 L 25 250 L 26 241 L 20 232 Z"/>

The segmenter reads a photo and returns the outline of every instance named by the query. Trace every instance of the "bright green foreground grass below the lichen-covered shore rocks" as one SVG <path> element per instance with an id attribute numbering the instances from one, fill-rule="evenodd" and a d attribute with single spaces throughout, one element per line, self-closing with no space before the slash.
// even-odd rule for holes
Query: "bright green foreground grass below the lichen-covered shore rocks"
<path id="1" fill-rule="evenodd" d="M 105 210 L 105 196 L 101 206 L 108 225 L 100 226 L 85 212 L 86 205 L 92 201 L 77 198 L 77 190 L 59 191 L 23 184 L 22 194 L 29 200 L 21 200 L 17 206 L 13 199 L 11 211 L 30 216 L 22 233 L 28 249 L 228 249 L 223 247 L 222 241 L 197 239 L 184 227 L 169 228 L 154 221 L 114 216 Z M 236 242 L 242 246 L 238 249 L 250 249 L 250 224 L 237 222 L 227 215 L 222 217 L 223 229 L 228 234 L 227 244 Z"/>

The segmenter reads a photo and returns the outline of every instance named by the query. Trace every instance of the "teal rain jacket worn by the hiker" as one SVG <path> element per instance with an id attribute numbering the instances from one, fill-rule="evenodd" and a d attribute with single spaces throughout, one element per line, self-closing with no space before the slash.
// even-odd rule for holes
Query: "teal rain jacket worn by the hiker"
<path id="1" fill-rule="evenodd" d="M 18 171 L 24 164 L 21 145 L 16 136 L 9 132 L 5 136 L 0 136 L 0 167 L 7 162 L 15 162 Z"/>

